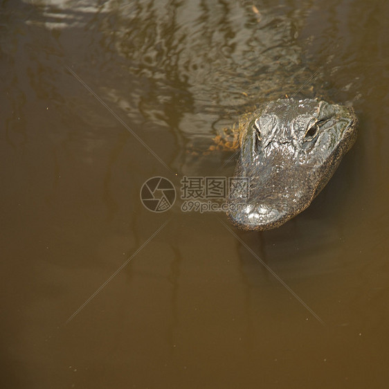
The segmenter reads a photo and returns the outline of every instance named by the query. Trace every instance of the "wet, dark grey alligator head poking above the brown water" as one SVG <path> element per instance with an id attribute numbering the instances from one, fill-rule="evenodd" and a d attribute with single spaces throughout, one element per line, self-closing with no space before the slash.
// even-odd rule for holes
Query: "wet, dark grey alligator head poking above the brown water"
<path id="1" fill-rule="evenodd" d="M 269 230 L 305 210 L 356 140 L 352 107 L 318 99 L 266 102 L 246 120 L 228 219 L 244 230 Z"/>

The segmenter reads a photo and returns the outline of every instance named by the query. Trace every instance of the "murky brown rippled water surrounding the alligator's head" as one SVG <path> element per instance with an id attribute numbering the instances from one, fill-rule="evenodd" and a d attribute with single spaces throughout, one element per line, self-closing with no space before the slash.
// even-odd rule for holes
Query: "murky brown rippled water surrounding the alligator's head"
<path id="1" fill-rule="evenodd" d="M 2 388 L 387 388 L 384 1 L 3 1 Z M 141 203 L 257 102 L 353 105 L 359 138 L 276 230 Z M 197 150 L 199 155 L 192 155 Z"/>

